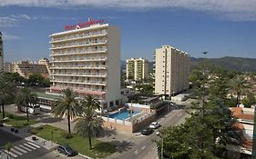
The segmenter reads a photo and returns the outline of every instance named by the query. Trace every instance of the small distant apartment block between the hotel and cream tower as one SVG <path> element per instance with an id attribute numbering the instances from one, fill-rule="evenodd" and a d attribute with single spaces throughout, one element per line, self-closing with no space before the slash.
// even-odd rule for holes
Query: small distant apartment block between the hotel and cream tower
<path id="1" fill-rule="evenodd" d="M 131 58 L 127 60 L 127 79 L 143 80 L 148 78 L 148 60 L 144 58 Z"/>

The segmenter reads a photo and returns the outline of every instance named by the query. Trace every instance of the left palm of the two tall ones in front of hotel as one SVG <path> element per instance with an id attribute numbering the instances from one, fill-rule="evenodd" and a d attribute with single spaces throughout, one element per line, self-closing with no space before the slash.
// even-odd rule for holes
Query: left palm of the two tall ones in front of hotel
<path id="1" fill-rule="evenodd" d="M 71 134 L 70 120 L 76 118 L 80 110 L 77 95 L 69 88 L 62 90 L 62 92 L 63 95 L 56 101 L 52 112 L 54 116 L 67 116 L 68 134 Z"/>

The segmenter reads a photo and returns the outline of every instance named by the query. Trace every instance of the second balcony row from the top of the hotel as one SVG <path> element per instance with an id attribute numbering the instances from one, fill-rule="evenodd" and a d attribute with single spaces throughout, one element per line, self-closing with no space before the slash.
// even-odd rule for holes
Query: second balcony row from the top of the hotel
<path id="1" fill-rule="evenodd" d="M 67 43 L 66 45 L 52 45 L 50 49 L 60 49 L 60 48 L 68 48 L 68 47 L 81 47 L 86 45 L 106 45 L 107 40 L 100 40 L 97 42 L 79 42 L 79 43 Z"/>

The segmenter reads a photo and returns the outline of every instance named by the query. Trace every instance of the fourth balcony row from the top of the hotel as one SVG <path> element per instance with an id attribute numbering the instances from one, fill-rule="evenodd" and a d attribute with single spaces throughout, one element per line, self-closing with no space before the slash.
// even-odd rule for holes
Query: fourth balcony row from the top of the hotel
<path id="1" fill-rule="evenodd" d="M 82 61 L 105 61 L 108 58 L 106 56 L 101 57 L 77 57 L 77 58 L 56 58 L 51 63 L 64 63 L 64 62 L 82 62 Z"/>

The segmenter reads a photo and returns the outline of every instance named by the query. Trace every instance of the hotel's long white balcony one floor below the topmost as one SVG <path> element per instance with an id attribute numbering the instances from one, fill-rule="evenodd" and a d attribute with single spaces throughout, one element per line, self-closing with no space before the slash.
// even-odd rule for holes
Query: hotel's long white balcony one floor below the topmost
<path id="1" fill-rule="evenodd" d="M 84 46 L 94 46 L 94 45 L 107 45 L 107 40 L 98 41 L 97 43 L 76 43 L 76 44 L 67 44 L 67 45 L 57 45 L 50 48 L 50 50 L 72 48 L 72 47 L 84 47 Z"/>

